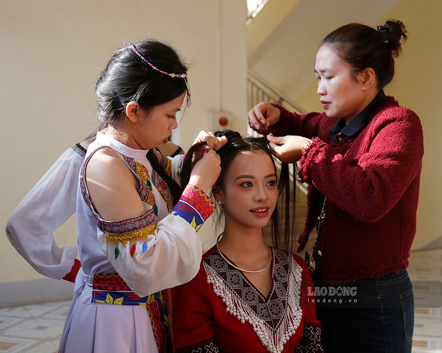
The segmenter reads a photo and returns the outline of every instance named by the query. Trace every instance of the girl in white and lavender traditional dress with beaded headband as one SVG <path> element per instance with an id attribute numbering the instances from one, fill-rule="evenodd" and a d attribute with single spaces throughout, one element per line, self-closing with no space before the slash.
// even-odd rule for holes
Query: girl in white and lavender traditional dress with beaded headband
<path id="1" fill-rule="evenodd" d="M 172 48 L 143 40 L 117 50 L 96 84 L 107 129 L 80 169 L 81 270 L 60 352 L 171 351 L 161 290 L 198 272 L 196 231 L 213 212 L 206 192 L 220 171 L 218 155 L 207 151 L 183 191 L 175 182 L 182 156 L 155 152 L 177 127 L 185 97 L 190 105 L 186 72 Z M 213 148 L 225 142 L 201 140 Z"/>

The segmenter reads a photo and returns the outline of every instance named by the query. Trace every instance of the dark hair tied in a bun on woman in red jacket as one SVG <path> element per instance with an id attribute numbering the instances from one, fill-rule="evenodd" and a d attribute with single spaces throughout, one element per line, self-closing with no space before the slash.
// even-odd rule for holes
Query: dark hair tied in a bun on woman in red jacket
<path id="1" fill-rule="evenodd" d="M 401 54 L 402 44 L 407 40 L 407 30 L 401 21 L 388 20 L 380 27 L 378 31 L 360 23 L 351 23 L 334 30 L 321 43 L 330 45 L 350 65 L 353 79 L 359 72 L 372 68 L 378 90 L 395 76 L 394 58 Z"/>

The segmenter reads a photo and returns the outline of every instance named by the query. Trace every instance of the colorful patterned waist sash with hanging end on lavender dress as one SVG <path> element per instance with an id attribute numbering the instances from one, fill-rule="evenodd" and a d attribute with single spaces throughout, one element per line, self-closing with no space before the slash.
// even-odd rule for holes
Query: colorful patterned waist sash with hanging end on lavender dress
<path id="1" fill-rule="evenodd" d="M 151 318 L 159 352 L 172 352 L 169 312 L 161 292 L 140 298 L 118 273 L 97 273 L 93 275 L 92 303 L 145 306 Z"/>

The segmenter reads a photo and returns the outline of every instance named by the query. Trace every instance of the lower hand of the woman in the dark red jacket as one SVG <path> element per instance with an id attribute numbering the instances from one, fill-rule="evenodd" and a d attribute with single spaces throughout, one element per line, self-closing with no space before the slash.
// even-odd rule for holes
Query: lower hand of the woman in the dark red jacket
<path id="1" fill-rule="evenodd" d="M 302 136 L 287 135 L 276 137 L 272 134 L 267 135 L 267 140 L 269 140 L 269 147 L 272 153 L 285 163 L 297 162 L 303 154 L 303 149 L 312 142 L 312 140 Z"/>

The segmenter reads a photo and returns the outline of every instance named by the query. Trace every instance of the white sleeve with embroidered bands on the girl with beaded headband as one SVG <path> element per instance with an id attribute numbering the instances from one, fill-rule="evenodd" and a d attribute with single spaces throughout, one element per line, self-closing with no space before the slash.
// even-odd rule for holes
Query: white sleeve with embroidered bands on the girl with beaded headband
<path id="1" fill-rule="evenodd" d="M 172 212 L 155 224 L 151 205 L 139 217 L 120 222 L 99 220 L 101 249 L 139 297 L 190 281 L 200 269 L 203 254 L 197 230 L 215 204 L 189 185 Z"/>

